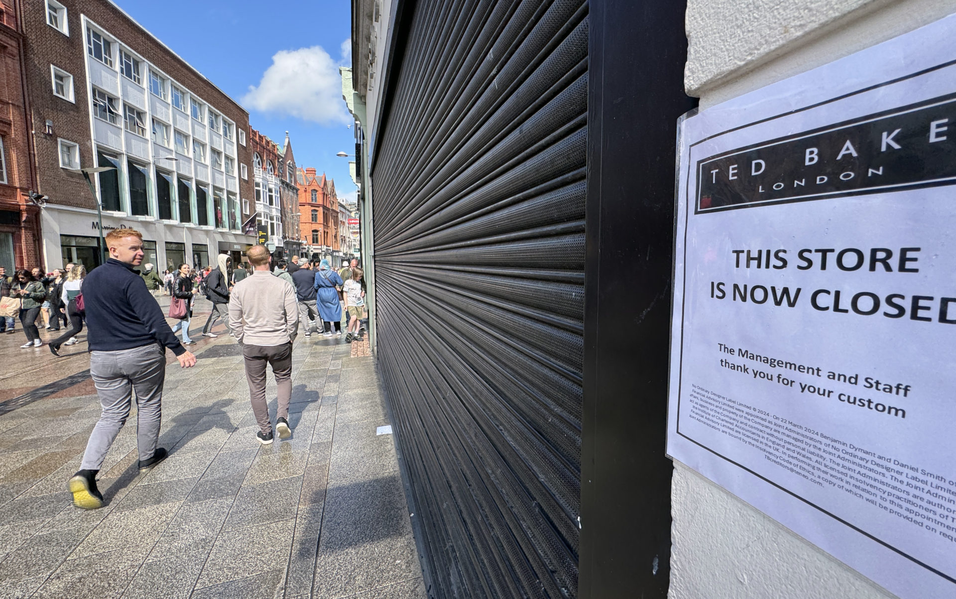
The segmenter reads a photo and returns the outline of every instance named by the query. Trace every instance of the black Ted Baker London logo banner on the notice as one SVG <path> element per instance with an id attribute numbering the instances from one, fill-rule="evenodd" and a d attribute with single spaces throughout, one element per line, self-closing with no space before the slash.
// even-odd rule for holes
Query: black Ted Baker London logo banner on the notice
<path id="1" fill-rule="evenodd" d="M 698 162 L 696 213 L 956 183 L 956 95 Z"/>

